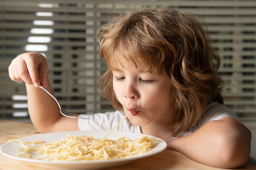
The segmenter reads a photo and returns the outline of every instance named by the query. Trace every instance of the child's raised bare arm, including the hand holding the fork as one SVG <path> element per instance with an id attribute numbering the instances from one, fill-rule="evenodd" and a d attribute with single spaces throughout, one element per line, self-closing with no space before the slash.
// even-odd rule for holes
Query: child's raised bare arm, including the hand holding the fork
<path id="1" fill-rule="evenodd" d="M 29 116 L 40 132 L 79 130 L 77 119 L 62 116 L 55 100 L 38 87 L 42 84 L 53 93 L 43 55 L 37 52 L 19 55 L 9 66 L 9 76 L 13 81 L 26 83 Z"/>

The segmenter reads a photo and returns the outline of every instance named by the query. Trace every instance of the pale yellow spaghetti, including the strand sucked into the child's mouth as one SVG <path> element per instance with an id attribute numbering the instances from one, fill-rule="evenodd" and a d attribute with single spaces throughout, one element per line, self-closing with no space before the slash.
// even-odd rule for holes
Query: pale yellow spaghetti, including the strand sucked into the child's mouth
<path id="1" fill-rule="evenodd" d="M 128 113 L 129 114 L 129 113 Z M 12 142 L 19 142 L 25 149 L 19 149 L 17 156 L 33 157 L 32 153 L 43 155 L 47 161 L 90 161 L 108 160 L 138 156 L 148 152 L 159 142 L 155 137 L 141 136 L 139 139 L 131 140 L 128 137 L 121 137 L 117 140 L 106 138 L 112 133 L 128 114 L 102 139 L 94 139 L 91 136 L 80 137 L 67 135 L 60 141 L 44 143 L 44 141 L 23 142 L 19 139 L 11 139 Z"/>

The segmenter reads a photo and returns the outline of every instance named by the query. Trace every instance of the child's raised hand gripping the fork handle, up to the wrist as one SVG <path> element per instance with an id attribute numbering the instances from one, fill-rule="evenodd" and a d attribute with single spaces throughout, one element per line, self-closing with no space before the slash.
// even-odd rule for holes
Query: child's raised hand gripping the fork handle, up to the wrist
<path id="1" fill-rule="evenodd" d="M 48 65 L 45 57 L 38 52 L 26 52 L 18 55 L 9 65 L 12 81 L 24 81 L 38 87 L 44 85 Z"/>

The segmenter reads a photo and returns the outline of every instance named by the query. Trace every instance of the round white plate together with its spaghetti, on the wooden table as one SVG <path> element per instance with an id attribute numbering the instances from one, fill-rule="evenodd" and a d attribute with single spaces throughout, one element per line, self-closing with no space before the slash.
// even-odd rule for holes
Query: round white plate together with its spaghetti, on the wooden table
<path id="1" fill-rule="evenodd" d="M 72 170 L 111 168 L 166 149 L 154 136 L 113 131 L 65 131 L 11 139 L 0 152 L 42 166 Z"/>

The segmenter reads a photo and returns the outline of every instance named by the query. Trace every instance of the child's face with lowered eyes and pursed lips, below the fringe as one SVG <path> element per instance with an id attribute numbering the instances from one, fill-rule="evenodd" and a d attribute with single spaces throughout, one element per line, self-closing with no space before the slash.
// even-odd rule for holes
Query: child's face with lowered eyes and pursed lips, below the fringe
<path id="1" fill-rule="evenodd" d="M 171 107 L 172 84 L 163 75 L 151 75 L 143 67 L 133 68 L 126 62 L 124 68 L 112 70 L 113 88 L 129 120 L 137 126 L 166 123 L 173 120 Z"/>

